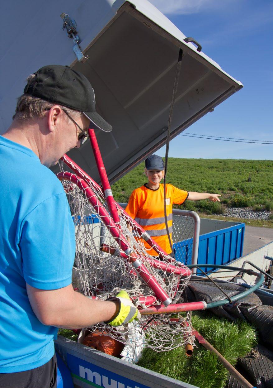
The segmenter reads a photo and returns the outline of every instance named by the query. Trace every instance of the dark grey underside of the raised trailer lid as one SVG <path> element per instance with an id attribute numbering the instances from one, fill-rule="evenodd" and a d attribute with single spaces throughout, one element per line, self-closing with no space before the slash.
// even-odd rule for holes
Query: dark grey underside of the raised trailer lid
<path id="1" fill-rule="evenodd" d="M 179 47 L 183 59 L 173 138 L 242 84 L 128 2 L 85 50 L 89 59 L 73 65 L 92 83 L 97 112 L 113 126 L 111 133 L 96 131 L 111 183 L 165 144 Z M 100 181 L 89 142 L 69 156 Z"/>

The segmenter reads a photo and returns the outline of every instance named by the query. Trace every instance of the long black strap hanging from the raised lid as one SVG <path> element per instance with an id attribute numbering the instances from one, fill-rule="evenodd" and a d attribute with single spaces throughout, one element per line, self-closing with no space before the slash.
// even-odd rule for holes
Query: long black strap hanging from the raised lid
<path id="1" fill-rule="evenodd" d="M 176 66 L 176 74 L 175 74 L 175 83 L 173 85 L 173 95 L 171 97 L 171 105 L 170 105 L 170 110 L 169 110 L 169 121 L 168 121 L 166 153 L 165 153 L 165 166 L 164 166 L 164 170 L 165 170 L 165 174 L 164 174 L 164 218 L 165 218 L 165 225 L 166 225 L 167 235 L 168 235 L 169 244 L 170 244 L 172 253 L 173 253 L 173 246 L 172 246 L 171 237 L 169 234 L 167 211 L 166 211 L 166 175 L 167 175 L 167 166 L 168 166 L 169 142 L 170 142 L 170 135 L 171 135 L 171 119 L 173 117 L 173 106 L 174 106 L 174 102 L 175 102 L 175 96 L 176 96 L 178 81 L 179 81 L 179 76 L 180 76 L 182 56 L 183 56 L 183 50 L 179 49 L 178 61 L 177 61 L 177 66 Z"/>

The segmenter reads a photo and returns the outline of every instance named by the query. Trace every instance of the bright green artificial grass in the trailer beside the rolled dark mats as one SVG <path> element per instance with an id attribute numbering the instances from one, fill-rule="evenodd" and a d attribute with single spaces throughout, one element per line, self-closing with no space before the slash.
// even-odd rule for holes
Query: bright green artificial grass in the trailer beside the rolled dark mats
<path id="1" fill-rule="evenodd" d="M 232 365 L 257 342 L 254 327 L 244 321 L 235 323 L 198 312 L 192 315 L 192 326 Z M 159 353 L 146 348 L 138 365 L 201 388 L 224 388 L 229 372 L 215 354 L 198 341 L 196 345 L 192 357 L 185 355 L 184 347 Z"/>

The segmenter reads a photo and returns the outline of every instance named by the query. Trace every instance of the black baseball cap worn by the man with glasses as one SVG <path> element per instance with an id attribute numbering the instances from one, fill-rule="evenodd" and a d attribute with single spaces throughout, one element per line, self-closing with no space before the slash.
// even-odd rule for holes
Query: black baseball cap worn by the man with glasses
<path id="1" fill-rule="evenodd" d="M 26 85 L 24 93 L 83 113 L 95 126 L 94 129 L 112 130 L 112 126 L 96 112 L 94 90 L 79 71 L 69 66 L 48 65 L 34 74 L 35 82 Z"/>

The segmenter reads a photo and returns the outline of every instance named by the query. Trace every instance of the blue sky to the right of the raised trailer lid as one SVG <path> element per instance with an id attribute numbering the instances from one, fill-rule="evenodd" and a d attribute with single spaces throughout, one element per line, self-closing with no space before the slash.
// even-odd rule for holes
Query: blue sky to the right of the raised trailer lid
<path id="1" fill-rule="evenodd" d="M 244 88 L 183 133 L 273 140 L 273 1 L 149 0 Z M 165 147 L 157 151 L 165 155 Z M 273 145 L 177 136 L 176 158 L 273 159 Z"/>

